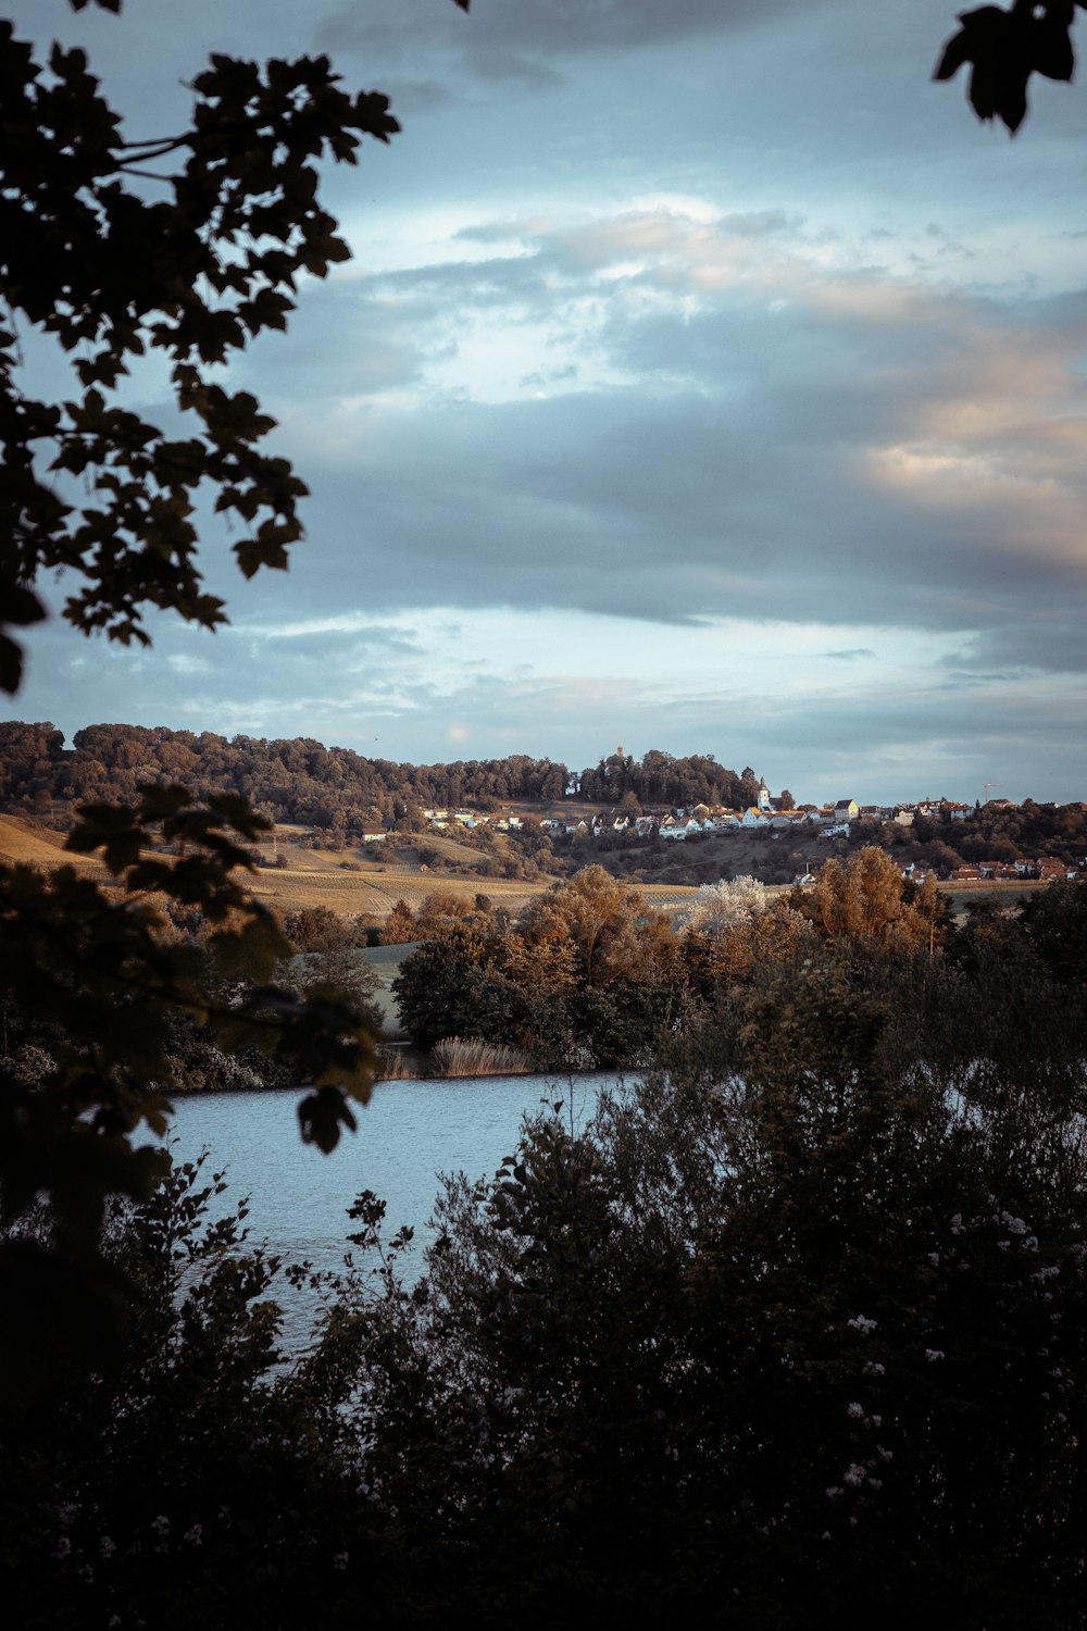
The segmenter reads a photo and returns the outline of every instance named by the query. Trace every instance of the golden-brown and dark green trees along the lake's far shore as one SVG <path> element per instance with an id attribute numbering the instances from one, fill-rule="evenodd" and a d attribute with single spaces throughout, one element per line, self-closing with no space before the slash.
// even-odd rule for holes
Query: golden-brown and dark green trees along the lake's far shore
<path id="1" fill-rule="evenodd" d="M 419 1047 L 479 1037 L 541 1070 L 605 1068 L 644 1063 L 761 970 L 843 938 L 872 954 L 919 951 L 934 967 L 984 967 L 986 977 L 999 957 L 1014 977 L 1010 1008 L 1033 988 L 1028 969 L 1087 975 L 1087 889 L 1053 886 L 1015 918 L 979 913 L 957 925 L 931 879 L 914 886 L 883 850 L 865 848 L 777 900 L 751 877 L 704 886 L 675 926 L 637 889 L 590 866 L 517 918 L 486 897 L 468 904 L 437 891 L 414 920 L 401 904 L 386 935 L 420 941 L 394 982 Z"/>

